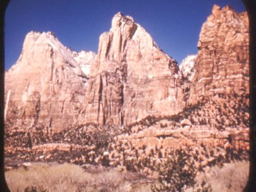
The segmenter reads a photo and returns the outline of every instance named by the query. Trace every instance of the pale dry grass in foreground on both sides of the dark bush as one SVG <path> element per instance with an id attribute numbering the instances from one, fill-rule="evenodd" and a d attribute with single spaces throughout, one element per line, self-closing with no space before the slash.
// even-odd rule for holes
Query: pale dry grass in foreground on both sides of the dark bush
<path id="1" fill-rule="evenodd" d="M 196 177 L 197 184 L 205 180 L 212 191 L 238 192 L 246 185 L 249 162 L 239 161 L 224 164 L 222 168 L 213 166 Z M 144 174 L 122 171 L 120 168 L 82 168 L 74 164 L 34 163 L 26 168 L 8 170 L 5 174 L 12 192 L 23 191 L 105 191 L 139 192 L 151 191 L 156 180 Z M 185 190 L 197 191 L 197 187 Z M 202 187 L 200 187 L 202 191 Z"/>

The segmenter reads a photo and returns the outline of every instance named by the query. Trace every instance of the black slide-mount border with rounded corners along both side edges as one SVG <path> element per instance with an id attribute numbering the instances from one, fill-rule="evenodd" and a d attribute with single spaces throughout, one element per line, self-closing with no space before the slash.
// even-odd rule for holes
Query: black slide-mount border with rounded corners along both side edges
<path id="1" fill-rule="evenodd" d="M 4 74 L 5 74 L 5 10 L 10 0 L 0 0 L 0 190 L 9 191 L 4 174 Z M 256 2 L 254 0 L 242 0 L 245 4 L 246 10 L 249 14 L 249 26 L 250 26 L 250 173 L 249 181 L 244 191 L 256 190 Z"/>

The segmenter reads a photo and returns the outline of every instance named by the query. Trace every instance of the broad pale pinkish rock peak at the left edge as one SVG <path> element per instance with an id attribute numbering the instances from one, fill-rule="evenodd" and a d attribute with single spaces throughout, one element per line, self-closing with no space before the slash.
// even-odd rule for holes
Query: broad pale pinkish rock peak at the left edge
<path id="1" fill-rule="evenodd" d="M 16 64 L 5 73 L 6 123 L 47 132 L 74 123 L 86 93 L 85 74 L 52 32 L 30 32 Z"/>

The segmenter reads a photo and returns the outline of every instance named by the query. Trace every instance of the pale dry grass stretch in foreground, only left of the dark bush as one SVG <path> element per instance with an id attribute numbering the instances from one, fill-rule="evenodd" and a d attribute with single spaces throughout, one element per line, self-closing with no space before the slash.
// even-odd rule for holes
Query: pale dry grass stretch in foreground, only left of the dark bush
<path id="1" fill-rule="evenodd" d="M 54 191 L 148 191 L 150 182 L 141 174 L 119 172 L 116 168 L 85 171 L 74 164 L 32 164 L 27 169 L 9 170 L 5 174 L 7 185 L 12 192 L 23 192 L 26 187 L 34 186 L 39 192 Z M 144 181 L 135 185 L 135 181 Z"/>

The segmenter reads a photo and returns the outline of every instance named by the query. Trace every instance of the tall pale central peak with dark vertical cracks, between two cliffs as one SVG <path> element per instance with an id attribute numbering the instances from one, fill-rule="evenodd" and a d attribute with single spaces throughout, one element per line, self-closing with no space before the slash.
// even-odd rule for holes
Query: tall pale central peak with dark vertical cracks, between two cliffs
<path id="1" fill-rule="evenodd" d="M 184 107 L 176 61 L 131 16 L 118 12 L 100 36 L 81 123 L 130 124 Z"/>

